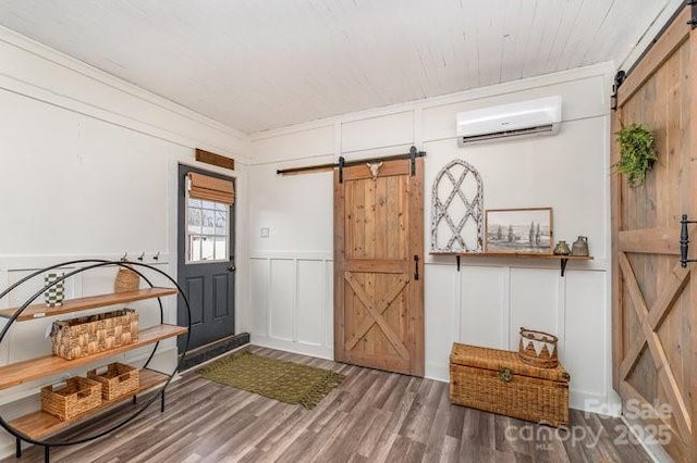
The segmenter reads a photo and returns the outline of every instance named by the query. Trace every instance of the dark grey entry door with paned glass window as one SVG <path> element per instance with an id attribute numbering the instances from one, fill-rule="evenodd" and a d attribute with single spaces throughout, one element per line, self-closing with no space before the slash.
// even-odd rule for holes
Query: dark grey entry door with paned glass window
<path id="1" fill-rule="evenodd" d="M 187 174 L 224 177 L 194 167 L 179 166 L 178 283 L 192 313 L 188 349 L 234 334 L 234 205 L 188 198 Z M 186 321 L 180 297 L 180 323 Z M 184 341 L 184 337 L 180 338 Z M 183 345 L 180 343 L 180 351 Z"/>

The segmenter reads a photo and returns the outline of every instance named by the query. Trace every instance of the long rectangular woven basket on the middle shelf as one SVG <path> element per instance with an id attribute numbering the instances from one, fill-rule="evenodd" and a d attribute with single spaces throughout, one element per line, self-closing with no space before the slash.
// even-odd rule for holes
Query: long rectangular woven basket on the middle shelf
<path id="1" fill-rule="evenodd" d="M 97 315 L 53 322 L 53 355 L 80 359 L 138 340 L 138 313 L 122 309 Z"/>

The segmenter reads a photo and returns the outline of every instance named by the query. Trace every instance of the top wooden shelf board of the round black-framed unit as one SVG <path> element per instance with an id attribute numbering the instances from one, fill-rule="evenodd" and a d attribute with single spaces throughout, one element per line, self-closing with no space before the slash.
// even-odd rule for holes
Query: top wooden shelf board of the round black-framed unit
<path id="1" fill-rule="evenodd" d="M 42 318 L 45 316 L 61 315 L 64 313 L 78 312 L 100 306 L 115 305 L 127 302 L 142 301 L 145 299 L 161 298 L 164 296 L 176 295 L 179 291 L 174 288 L 147 288 L 137 291 L 112 292 L 109 295 L 89 296 L 80 299 L 66 299 L 63 305 L 49 308 L 45 303 L 28 305 L 24 312 L 17 317 L 17 322 L 26 322 L 28 320 Z M 0 317 L 10 318 L 19 308 L 0 310 Z"/>

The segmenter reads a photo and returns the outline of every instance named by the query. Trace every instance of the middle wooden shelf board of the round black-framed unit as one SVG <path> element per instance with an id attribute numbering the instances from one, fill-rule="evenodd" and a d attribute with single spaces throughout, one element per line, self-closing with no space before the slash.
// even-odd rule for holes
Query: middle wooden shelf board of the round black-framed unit
<path id="1" fill-rule="evenodd" d="M 56 355 L 39 356 L 24 362 L 0 366 L 0 390 L 19 386 L 35 379 L 57 373 L 73 370 L 109 356 L 113 356 L 143 346 L 151 345 L 162 339 L 181 336 L 187 331 L 186 327 L 176 325 L 156 325 L 138 333 L 138 340 L 127 346 L 110 349 L 81 359 L 65 360 Z"/>

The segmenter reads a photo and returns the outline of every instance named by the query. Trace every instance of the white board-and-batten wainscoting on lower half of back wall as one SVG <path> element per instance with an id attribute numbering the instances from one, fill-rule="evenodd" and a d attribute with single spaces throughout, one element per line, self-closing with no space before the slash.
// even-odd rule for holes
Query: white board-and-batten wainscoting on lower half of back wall
<path id="1" fill-rule="evenodd" d="M 462 265 L 429 262 L 425 266 L 426 377 L 448 381 L 453 340 L 497 349 L 516 350 L 522 325 L 557 333 L 559 353 L 570 372 L 592 367 L 583 356 L 602 356 L 609 347 L 588 337 L 588 325 L 602 318 L 603 270 Z M 250 258 L 250 298 L 255 309 L 252 343 L 322 359 L 333 358 L 331 254 L 259 252 Z M 603 410 L 602 375 L 574 375 L 572 406 Z M 607 413 L 610 410 L 606 411 Z"/>

